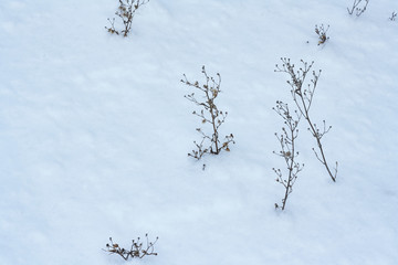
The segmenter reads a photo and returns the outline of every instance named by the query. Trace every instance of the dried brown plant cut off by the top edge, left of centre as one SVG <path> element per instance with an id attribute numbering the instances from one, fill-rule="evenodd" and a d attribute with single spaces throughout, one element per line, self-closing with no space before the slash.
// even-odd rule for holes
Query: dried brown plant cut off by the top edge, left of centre
<path id="1" fill-rule="evenodd" d="M 111 28 L 105 26 L 105 29 L 112 34 L 116 34 L 116 35 L 122 34 L 123 36 L 127 36 L 132 30 L 135 12 L 138 10 L 139 7 L 148 3 L 149 0 L 118 0 L 118 1 L 119 1 L 119 7 L 115 12 L 115 14 L 122 19 L 124 29 L 123 30 L 115 29 L 115 18 L 113 18 L 112 20 L 108 19 L 111 23 Z"/>

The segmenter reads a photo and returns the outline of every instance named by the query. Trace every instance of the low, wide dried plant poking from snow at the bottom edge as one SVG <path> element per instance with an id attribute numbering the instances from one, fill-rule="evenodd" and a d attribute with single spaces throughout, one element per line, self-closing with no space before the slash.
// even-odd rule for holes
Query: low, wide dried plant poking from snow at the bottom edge
<path id="1" fill-rule="evenodd" d="M 138 237 L 137 241 L 133 240 L 132 246 L 129 250 L 125 250 L 121 247 L 118 244 L 114 243 L 112 241 L 112 237 L 109 237 L 111 244 L 106 244 L 106 252 L 109 254 L 117 254 L 121 257 L 123 257 L 125 261 L 128 261 L 128 258 L 143 258 L 144 256 L 150 256 L 150 255 L 157 255 L 157 253 L 154 252 L 154 245 L 158 241 L 159 237 L 156 237 L 154 242 L 149 242 L 148 234 L 145 234 L 146 237 L 146 246 L 144 247 L 144 243 L 140 242 L 140 239 Z"/>

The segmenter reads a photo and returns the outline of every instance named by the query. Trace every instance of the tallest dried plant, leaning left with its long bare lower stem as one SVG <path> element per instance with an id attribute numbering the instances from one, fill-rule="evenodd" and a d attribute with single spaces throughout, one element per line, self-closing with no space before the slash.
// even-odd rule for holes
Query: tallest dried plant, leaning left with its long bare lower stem
<path id="1" fill-rule="evenodd" d="M 314 99 L 315 88 L 317 85 L 317 81 L 321 76 L 321 70 L 318 73 L 315 73 L 315 71 L 312 72 L 313 78 L 311 80 L 311 83 L 307 84 L 307 86 L 303 86 L 305 78 L 307 74 L 311 71 L 311 67 L 313 66 L 314 62 L 311 64 L 304 62 L 301 60 L 303 67 L 298 68 L 298 71 L 295 71 L 294 64 L 290 62 L 290 59 L 281 59 L 282 60 L 282 67 L 279 67 L 276 64 L 275 72 L 282 72 L 290 75 L 290 81 L 287 81 L 287 84 L 292 87 L 291 95 L 293 97 L 294 103 L 296 104 L 298 112 L 303 115 L 304 119 L 306 119 L 308 124 L 308 130 L 312 134 L 312 136 L 316 139 L 316 144 L 318 147 L 320 153 L 313 148 L 313 151 L 316 156 L 316 158 L 320 160 L 322 165 L 325 166 L 327 173 L 332 178 L 332 180 L 335 182 L 337 177 L 337 162 L 335 172 L 332 173 L 329 166 L 327 165 L 325 152 L 321 142 L 321 139 L 325 134 L 327 134 L 332 126 L 326 127 L 326 121 L 323 120 L 322 128 L 317 127 L 316 124 L 314 124 L 311 120 L 310 117 L 310 108 Z"/>

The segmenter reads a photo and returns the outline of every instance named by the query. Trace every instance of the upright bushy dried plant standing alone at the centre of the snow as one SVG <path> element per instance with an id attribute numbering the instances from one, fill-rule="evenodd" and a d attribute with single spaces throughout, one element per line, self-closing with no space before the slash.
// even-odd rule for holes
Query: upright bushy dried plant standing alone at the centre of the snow
<path id="1" fill-rule="evenodd" d="M 219 128 L 226 121 L 226 118 L 228 116 L 228 113 L 219 110 L 214 103 L 216 98 L 221 93 L 221 76 L 219 73 L 217 73 L 217 80 L 209 76 L 206 73 L 205 66 L 202 66 L 201 72 L 206 78 L 205 84 L 202 85 L 199 84 L 198 81 L 195 81 L 193 83 L 189 82 L 185 74 L 185 80 L 181 80 L 184 84 L 191 86 L 205 94 L 205 96 L 202 97 L 203 99 L 198 99 L 195 93 L 186 95 L 185 97 L 188 100 L 195 103 L 197 106 L 201 107 L 199 113 L 195 110 L 192 114 L 200 117 L 202 124 L 209 124 L 212 130 L 212 135 L 209 136 L 201 128 L 197 128 L 197 131 L 202 136 L 202 139 L 199 144 L 197 141 L 193 141 L 197 150 L 192 150 L 192 152 L 188 153 L 188 156 L 193 157 L 198 160 L 205 153 L 219 155 L 222 149 L 226 151 L 230 151 L 229 145 L 231 142 L 234 144 L 232 134 L 226 136 L 222 142 L 220 141 L 219 137 Z M 205 144 L 206 146 L 203 146 Z"/>

